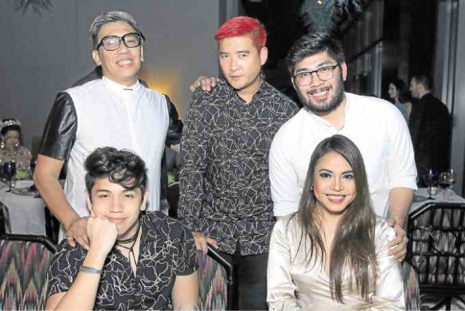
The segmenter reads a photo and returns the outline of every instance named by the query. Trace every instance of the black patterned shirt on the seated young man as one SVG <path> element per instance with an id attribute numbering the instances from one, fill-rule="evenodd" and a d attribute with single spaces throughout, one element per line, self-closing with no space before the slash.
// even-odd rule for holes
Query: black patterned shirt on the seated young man
<path id="1" fill-rule="evenodd" d="M 87 251 L 63 240 L 51 263 L 47 297 L 70 289 Z M 197 250 L 189 229 L 161 212 L 142 216 L 136 275 L 128 258 L 113 248 L 106 257 L 94 310 L 172 310 L 177 275 L 195 271 Z"/>

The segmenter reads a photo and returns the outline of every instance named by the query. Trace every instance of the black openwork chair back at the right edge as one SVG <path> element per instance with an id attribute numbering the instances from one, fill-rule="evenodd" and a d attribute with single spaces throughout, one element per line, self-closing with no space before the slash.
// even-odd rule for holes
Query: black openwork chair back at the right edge
<path id="1" fill-rule="evenodd" d="M 465 293 L 465 205 L 426 203 L 409 214 L 407 236 L 421 297 L 438 296 L 431 309 L 450 310 L 452 299 Z"/>

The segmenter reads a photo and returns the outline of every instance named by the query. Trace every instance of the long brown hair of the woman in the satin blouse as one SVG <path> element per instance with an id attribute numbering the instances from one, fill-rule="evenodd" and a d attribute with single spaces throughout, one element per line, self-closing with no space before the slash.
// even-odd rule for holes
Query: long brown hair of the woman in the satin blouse
<path id="1" fill-rule="evenodd" d="M 370 284 L 376 282 L 376 252 L 374 234 L 376 214 L 371 209 L 370 194 L 364 160 L 352 140 L 342 135 L 326 138 L 318 144 L 311 156 L 309 171 L 306 175 L 304 191 L 300 200 L 297 216 L 302 227 L 299 248 L 309 241 L 310 249 L 306 254 L 306 264 L 316 264 L 317 255 L 324 262 L 328 250 L 323 246 L 321 224 L 316 217 L 316 197 L 311 185 L 318 160 L 328 152 L 340 154 L 352 168 L 356 186 L 354 201 L 342 215 L 330 250 L 330 289 L 331 297 L 343 303 L 342 278 L 349 277 L 349 288 L 354 288 L 362 298 L 368 300 Z"/>

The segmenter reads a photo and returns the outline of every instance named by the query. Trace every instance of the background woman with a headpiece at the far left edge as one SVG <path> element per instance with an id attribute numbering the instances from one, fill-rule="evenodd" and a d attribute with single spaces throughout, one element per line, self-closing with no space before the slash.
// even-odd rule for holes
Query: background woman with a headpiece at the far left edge
<path id="1" fill-rule="evenodd" d="M 16 170 L 30 169 L 32 154 L 21 145 L 21 123 L 17 118 L 3 118 L 0 121 L 1 138 L 0 160 L 2 162 L 15 161 Z"/>

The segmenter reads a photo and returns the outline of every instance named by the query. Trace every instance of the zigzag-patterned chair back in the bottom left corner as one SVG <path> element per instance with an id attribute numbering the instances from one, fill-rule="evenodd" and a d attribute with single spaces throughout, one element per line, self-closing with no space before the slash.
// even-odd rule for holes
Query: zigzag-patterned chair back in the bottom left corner
<path id="1" fill-rule="evenodd" d="M 0 238 L 0 310 L 44 310 L 56 246 L 44 236 Z"/>

